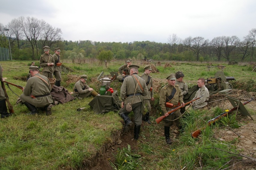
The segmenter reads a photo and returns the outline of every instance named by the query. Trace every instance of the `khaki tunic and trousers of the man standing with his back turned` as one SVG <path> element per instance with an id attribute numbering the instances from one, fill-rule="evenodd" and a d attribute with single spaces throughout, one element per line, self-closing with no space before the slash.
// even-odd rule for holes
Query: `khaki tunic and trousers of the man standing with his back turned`
<path id="1" fill-rule="evenodd" d="M 145 81 L 142 78 L 140 78 L 136 73 L 133 75 L 135 75 L 136 78 L 139 80 L 139 83 L 141 84 L 142 89 L 144 91 L 142 92 L 142 89 L 139 86 L 139 84 L 136 90 L 137 81 L 133 76 L 126 77 L 123 81 L 123 84 L 121 86 L 121 91 L 120 91 L 120 98 L 122 102 L 124 102 L 124 107 L 120 109 L 118 114 L 120 115 L 123 113 L 129 114 L 130 112 L 126 111 L 126 103 L 131 103 L 132 111 L 134 113 L 134 123 L 137 126 L 139 126 L 142 123 L 142 111 L 144 110 L 143 96 L 148 95 L 148 89 Z M 130 95 L 134 93 L 141 93 L 142 95 L 134 96 L 134 97 L 133 96 L 126 97 L 126 95 Z"/>

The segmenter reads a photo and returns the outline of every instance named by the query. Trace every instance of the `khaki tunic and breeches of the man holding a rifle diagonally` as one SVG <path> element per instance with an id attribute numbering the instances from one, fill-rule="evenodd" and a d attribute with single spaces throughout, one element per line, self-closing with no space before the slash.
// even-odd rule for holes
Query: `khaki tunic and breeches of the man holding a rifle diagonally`
<path id="1" fill-rule="evenodd" d="M 173 105 L 178 105 L 178 102 L 180 102 L 180 104 L 183 103 L 183 99 L 182 99 L 183 96 L 182 96 L 181 89 L 179 88 L 179 86 L 176 84 L 174 86 L 171 86 L 169 84 L 165 85 L 160 90 L 160 98 L 159 98 L 159 106 L 161 107 L 163 114 L 167 113 L 167 111 L 172 109 L 172 108 L 165 107 L 165 103 L 166 103 L 166 97 L 169 97 L 171 95 L 173 88 L 175 88 L 177 91 L 175 93 L 175 96 L 169 103 L 172 103 Z M 174 120 L 174 118 L 176 116 L 175 114 L 178 114 L 178 116 L 181 115 L 180 109 L 175 111 L 174 114 L 166 117 L 164 120 L 167 120 L 167 121 Z M 179 125 L 177 125 L 177 126 L 179 126 Z"/>

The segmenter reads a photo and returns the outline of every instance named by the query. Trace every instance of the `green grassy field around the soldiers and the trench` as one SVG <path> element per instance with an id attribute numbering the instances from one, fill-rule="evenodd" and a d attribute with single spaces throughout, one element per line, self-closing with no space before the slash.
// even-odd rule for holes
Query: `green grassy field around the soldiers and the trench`
<path id="1" fill-rule="evenodd" d="M 23 77 L 29 72 L 29 65 L 31 61 L 7 61 L 0 62 L 3 71 L 3 77 L 6 81 L 15 83 L 20 86 L 25 86 L 26 81 Z M 137 64 L 137 63 L 133 63 Z M 219 63 L 218 63 L 219 64 Z M 36 62 L 39 65 L 39 61 Z M 75 72 L 63 73 L 61 85 L 72 92 L 75 81 L 67 83 L 70 75 L 88 75 L 88 84 L 90 87 L 99 91 L 99 82 L 95 81 L 98 75 L 103 71 L 109 74 L 110 71 L 118 71 L 122 62 L 114 61 L 108 63 L 107 68 L 98 62 L 73 64 L 63 63 L 64 66 L 71 68 Z M 172 67 L 164 68 L 164 63 L 161 66 L 156 66 L 159 73 L 152 73 L 153 78 L 163 79 L 175 73 L 176 71 L 183 71 L 185 74 L 184 81 L 189 81 L 196 85 L 199 77 L 210 78 L 215 75 L 218 68 L 211 68 L 208 71 L 206 63 L 184 62 L 176 63 Z M 217 65 L 217 63 L 215 64 Z M 224 68 L 224 75 L 226 77 L 235 77 L 236 81 L 241 83 L 254 83 L 252 89 L 255 90 L 255 72 L 251 72 L 250 65 L 226 65 Z M 143 73 L 143 67 L 140 65 L 139 72 Z M 140 74 L 139 73 L 139 74 Z M 240 84 L 241 84 L 240 83 Z M 121 83 L 114 81 L 112 87 L 120 91 Z M 11 89 L 18 94 L 22 91 L 14 86 Z M 0 169 L 77 169 L 84 168 L 85 165 L 90 165 L 90 161 L 96 154 L 101 153 L 107 143 L 113 142 L 112 136 L 122 130 L 122 119 L 115 112 L 108 112 L 106 114 L 94 114 L 93 110 L 87 105 L 92 97 L 83 100 L 73 100 L 66 104 L 56 105 L 52 108 L 52 115 L 46 116 L 41 113 L 37 116 L 26 115 L 28 109 L 25 105 L 16 105 L 18 96 L 11 92 L 6 86 L 11 104 L 14 106 L 14 115 L 0 121 Z M 158 94 L 155 94 L 157 100 Z M 77 108 L 86 107 L 84 111 L 78 112 Z M 210 113 L 210 114 L 209 114 Z M 224 145 L 212 142 L 212 129 L 206 128 L 200 141 L 194 140 L 190 137 L 191 129 L 197 129 L 205 124 L 205 120 L 209 120 L 209 115 L 218 115 L 221 110 L 212 110 L 208 112 L 193 112 L 184 117 L 183 123 L 186 126 L 185 133 L 179 136 L 180 143 L 171 146 L 162 147 L 164 144 L 164 137 L 159 137 L 155 129 L 162 130 L 163 124 L 153 124 L 148 127 L 150 135 L 146 132 L 141 133 L 141 139 L 145 142 L 141 143 L 139 151 L 120 148 L 121 153 L 130 155 L 130 166 L 124 165 L 122 161 L 127 159 L 124 157 L 118 162 L 112 162 L 117 169 L 176 169 L 187 166 L 188 169 L 193 169 L 194 165 L 198 165 L 198 155 L 201 155 L 204 169 L 214 169 L 214 167 L 221 167 L 227 162 L 229 157 L 223 152 L 206 151 L 203 148 L 219 147 L 224 148 Z M 251 113 L 255 114 L 255 112 Z M 151 114 L 152 115 L 152 114 Z M 198 119 L 204 121 L 198 122 Z M 153 118 L 158 116 L 158 113 L 152 115 Z M 157 140 L 161 144 L 157 144 Z M 154 141 L 154 142 L 152 142 Z M 234 141 L 235 142 L 235 141 Z M 198 144 L 200 143 L 200 144 Z M 191 148 L 193 148 L 191 150 Z M 159 152 L 158 152 L 159 151 Z M 155 155 L 162 158 L 157 163 L 151 159 L 145 159 L 138 156 L 137 153 L 144 153 L 144 155 Z M 119 152 L 120 153 L 120 152 Z M 211 154 L 209 154 L 211 153 Z M 134 156 L 137 154 L 136 156 Z M 120 155 L 121 158 L 121 155 Z M 142 159 L 141 159 L 142 158 Z M 209 161 L 209 159 L 217 159 L 217 161 Z M 225 158 L 225 159 L 224 159 Z M 118 160 L 116 158 L 116 160 Z M 127 160 L 126 160 L 127 161 Z M 131 168 L 132 167 L 132 168 Z M 154 167 L 154 168 L 153 168 Z M 199 166 L 200 167 L 200 166 Z M 218 169 L 218 168 L 217 168 Z"/>

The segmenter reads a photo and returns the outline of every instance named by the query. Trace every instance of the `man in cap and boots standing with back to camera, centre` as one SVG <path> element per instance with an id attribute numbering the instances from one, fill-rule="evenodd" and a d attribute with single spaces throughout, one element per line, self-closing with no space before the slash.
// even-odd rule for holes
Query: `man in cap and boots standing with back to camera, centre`
<path id="1" fill-rule="evenodd" d="M 142 112 L 144 111 L 143 96 L 148 95 L 148 88 L 145 80 L 140 78 L 138 74 L 138 65 L 130 65 L 130 76 L 123 81 L 120 90 L 120 97 L 122 100 L 121 109 L 119 111 L 120 117 L 123 118 L 125 127 L 123 132 L 128 132 L 133 122 L 130 120 L 128 114 L 131 111 L 134 113 L 134 139 L 139 138 L 140 126 L 142 123 Z M 129 105 L 132 108 L 129 110 Z"/>

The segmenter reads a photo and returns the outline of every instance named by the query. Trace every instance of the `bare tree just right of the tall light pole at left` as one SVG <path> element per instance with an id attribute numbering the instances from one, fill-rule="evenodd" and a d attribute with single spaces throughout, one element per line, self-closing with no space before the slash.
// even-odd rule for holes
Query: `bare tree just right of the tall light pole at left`
<path id="1" fill-rule="evenodd" d="M 19 20 L 16 18 L 11 20 L 11 22 L 8 23 L 8 29 L 10 29 L 11 34 L 15 35 L 14 40 L 17 41 L 18 49 L 20 49 L 20 39 L 22 38 L 22 33 Z"/>

